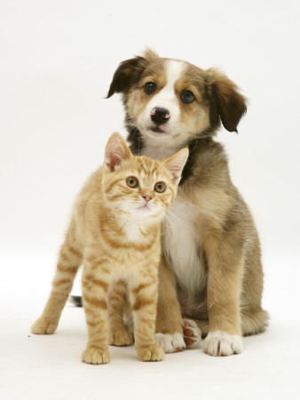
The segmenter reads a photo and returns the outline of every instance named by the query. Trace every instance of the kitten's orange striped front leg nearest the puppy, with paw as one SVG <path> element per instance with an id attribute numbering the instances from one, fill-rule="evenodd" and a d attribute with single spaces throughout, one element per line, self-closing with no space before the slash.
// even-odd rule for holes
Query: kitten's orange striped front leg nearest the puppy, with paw
<path id="1" fill-rule="evenodd" d="M 130 282 L 130 303 L 138 358 L 142 361 L 162 361 L 164 351 L 154 339 L 157 277 L 149 276 L 149 280 L 143 283 L 138 283 L 137 279 L 134 281 Z"/>

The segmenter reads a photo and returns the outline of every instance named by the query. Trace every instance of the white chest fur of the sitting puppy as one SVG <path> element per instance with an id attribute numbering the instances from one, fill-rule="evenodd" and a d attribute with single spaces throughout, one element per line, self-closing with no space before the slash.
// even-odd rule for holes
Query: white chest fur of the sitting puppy
<path id="1" fill-rule="evenodd" d="M 201 262 L 194 219 L 198 207 L 178 193 L 163 224 L 163 251 L 178 283 L 193 295 L 205 282 L 205 269 Z"/>

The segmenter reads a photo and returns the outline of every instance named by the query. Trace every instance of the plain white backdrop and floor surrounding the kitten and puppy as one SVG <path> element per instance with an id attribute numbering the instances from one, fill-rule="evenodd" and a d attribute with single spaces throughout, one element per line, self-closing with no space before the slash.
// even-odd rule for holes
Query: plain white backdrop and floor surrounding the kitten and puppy
<path id="1" fill-rule="evenodd" d="M 6 399 L 296 399 L 300 237 L 300 8 L 267 0 L 0 1 L 0 396 Z M 115 68 L 146 47 L 219 67 L 249 99 L 239 134 L 220 131 L 234 184 L 249 203 L 264 254 L 262 335 L 241 356 L 200 349 L 143 364 L 112 348 L 80 363 L 83 310 L 57 334 L 29 332 L 43 308 L 71 205 L 125 131 Z M 75 292 L 79 292 L 79 279 Z"/>

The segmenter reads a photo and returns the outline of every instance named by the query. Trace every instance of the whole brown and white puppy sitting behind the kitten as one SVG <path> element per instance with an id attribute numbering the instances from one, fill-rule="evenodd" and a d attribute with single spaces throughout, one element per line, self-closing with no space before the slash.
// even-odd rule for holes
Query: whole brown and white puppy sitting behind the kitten
<path id="1" fill-rule="evenodd" d="M 166 352 L 177 351 L 196 340 L 198 327 L 209 355 L 241 353 L 242 335 L 263 332 L 268 321 L 261 307 L 261 252 L 249 208 L 214 136 L 221 124 L 237 132 L 246 100 L 217 69 L 151 50 L 122 61 L 107 98 L 115 92 L 122 93 L 134 154 L 162 159 L 190 150 L 163 228 L 157 341 Z"/>

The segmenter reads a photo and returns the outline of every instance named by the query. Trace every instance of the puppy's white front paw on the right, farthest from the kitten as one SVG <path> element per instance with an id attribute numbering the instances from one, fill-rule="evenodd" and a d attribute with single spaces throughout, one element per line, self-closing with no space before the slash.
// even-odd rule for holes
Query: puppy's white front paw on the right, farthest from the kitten
<path id="1" fill-rule="evenodd" d="M 210 332 L 204 340 L 203 351 L 209 356 L 232 356 L 242 352 L 240 335 L 226 332 Z"/>

